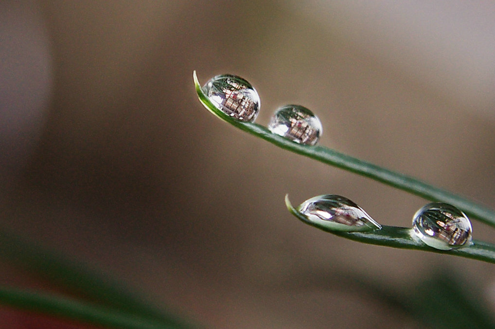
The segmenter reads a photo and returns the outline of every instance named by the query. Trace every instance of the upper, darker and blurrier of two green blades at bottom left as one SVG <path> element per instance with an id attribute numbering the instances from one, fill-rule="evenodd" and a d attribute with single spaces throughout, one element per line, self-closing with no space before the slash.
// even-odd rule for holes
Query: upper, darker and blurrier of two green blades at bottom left
<path id="1" fill-rule="evenodd" d="M 192 328 L 172 312 L 156 308 L 105 273 L 4 230 L 0 230 L 0 250 L 2 258 L 69 291 L 129 314 L 155 319 L 165 326 Z"/>

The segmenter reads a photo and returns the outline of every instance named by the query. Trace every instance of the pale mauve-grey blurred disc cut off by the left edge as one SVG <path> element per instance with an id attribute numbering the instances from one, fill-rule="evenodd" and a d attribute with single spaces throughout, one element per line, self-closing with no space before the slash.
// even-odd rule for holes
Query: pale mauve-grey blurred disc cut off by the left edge
<path id="1" fill-rule="evenodd" d="M 52 91 L 50 41 L 38 1 L 0 3 L 0 183 L 28 160 Z"/>

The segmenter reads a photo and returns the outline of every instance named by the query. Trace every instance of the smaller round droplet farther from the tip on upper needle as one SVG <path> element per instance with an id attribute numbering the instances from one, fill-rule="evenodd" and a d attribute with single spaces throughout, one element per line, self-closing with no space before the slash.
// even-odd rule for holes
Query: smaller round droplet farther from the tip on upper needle
<path id="1" fill-rule="evenodd" d="M 300 105 L 286 105 L 273 115 L 268 129 L 300 144 L 315 145 L 323 127 L 313 112 Z"/>

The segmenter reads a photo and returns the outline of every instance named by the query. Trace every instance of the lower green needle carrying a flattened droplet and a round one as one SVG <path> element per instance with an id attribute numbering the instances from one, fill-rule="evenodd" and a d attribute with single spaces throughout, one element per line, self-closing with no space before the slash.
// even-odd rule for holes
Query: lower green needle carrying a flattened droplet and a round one
<path id="1" fill-rule="evenodd" d="M 495 263 L 495 245 L 488 242 L 473 240 L 473 244 L 467 247 L 461 247 L 452 250 L 439 250 L 425 245 L 421 240 L 413 238 L 412 229 L 397 226 L 382 226 L 380 230 L 367 232 L 342 232 L 332 231 L 328 227 L 309 221 L 304 215 L 298 212 L 285 196 L 287 209 L 303 223 L 319 228 L 320 230 L 335 234 L 349 240 L 354 240 L 366 244 L 437 252 L 454 256 L 482 260 L 489 263 Z"/>

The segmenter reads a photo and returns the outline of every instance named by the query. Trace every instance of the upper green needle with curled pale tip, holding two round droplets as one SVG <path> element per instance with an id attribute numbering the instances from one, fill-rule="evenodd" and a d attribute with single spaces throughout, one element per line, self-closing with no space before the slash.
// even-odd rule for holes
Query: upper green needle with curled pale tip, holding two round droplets
<path id="1" fill-rule="evenodd" d="M 196 92 L 198 93 L 198 98 L 201 103 L 208 111 L 227 123 L 230 123 L 254 136 L 260 137 L 274 145 L 294 153 L 357 173 L 361 176 L 369 177 L 430 201 L 451 204 L 462 209 L 468 216 L 495 227 L 495 211 L 488 207 L 476 204 L 463 197 L 432 186 L 414 177 L 350 157 L 346 154 L 326 147 L 297 144 L 287 138 L 270 132 L 270 130 L 260 124 L 242 122 L 231 118 L 221 110 L 217 109 L 204 94 L 201 86 L 199 85 L 196 71 L 194 72 L 194 82 L 196 85 Z"/>

